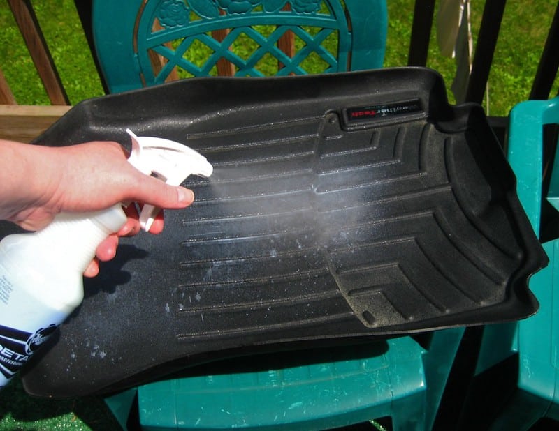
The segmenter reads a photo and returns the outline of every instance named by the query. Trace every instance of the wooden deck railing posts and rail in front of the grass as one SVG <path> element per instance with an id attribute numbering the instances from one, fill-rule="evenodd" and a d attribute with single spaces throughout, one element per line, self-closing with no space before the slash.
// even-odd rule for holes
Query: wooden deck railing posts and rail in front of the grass
<path id="1" fill-rule="evenodd" d="M 89 49 L 92 51 L 94 61 L 96 61 L 91 25 L 93 1 L 75 0 L 75 6 Z M 68 105 L 66 91 L 43 38 L 41 27 L 34 13 L 32 0 L 8 0 L 8 4 L 24 37 L 50 102 L 52 105 Z M 465 101 L 481 103 L 484 98 L 505 4 L 506 0 L 487 0 L 485 3 Z M 412 36 L 407 61 L 409 66 L 426 66 L 434 13 L 435 0 L 415 1 Z M 542 56 L 539 59 L 537 73 L 532 82 L 530 98 L 545 99 L 554 96 L 550 95 L 550 92 L 559 68 L 558 52 L 559 3 L 546 38 Z M 96 66 L 99 73 L 100 69 L 97 63 Z M 100 73 L 99 76 L 101 84 L 106 90 L 103 76 Z M 0 107 L 0 138 L 29 140 L 41 133 L 52 121 L 55 121 L 59 115 L 68 109 L 64 107 L 14 107 L 15 103 L 16 100 L 1 73 L 0 66 L 0 105 L 2 105 Z M 506 119 L 493 118 L 491 121 L 498 135 L 502 133 L 500 129 L 506 126 Z"/>

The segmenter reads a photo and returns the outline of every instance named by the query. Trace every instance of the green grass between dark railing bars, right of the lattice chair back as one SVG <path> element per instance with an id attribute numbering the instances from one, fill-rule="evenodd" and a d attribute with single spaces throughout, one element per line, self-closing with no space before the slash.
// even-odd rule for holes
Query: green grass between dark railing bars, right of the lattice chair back
<path id="1" fill-rule="evenodd" d="M 474 47 L 483 3 L 473 1 L 471 5 Z M 388 4 L 389 33 L 384 66 L 402 66 L 407 61 L 409 51 L 414 0 L 389 0 Z M 556 6 L 555 0 L 537 1 L 530 5 L 523 1 L 507 2 L 484 100 L 488 114 L 506 116 L 516 103 L 528 98 Z M 438 50 L 436 18 L 435 11 L 427 66 L 441 73 L 448 89 L 456 66 L 453 59 L 442 56 Z M 559 77 L 555 80 L 551 95 L 556 95 L 558 91 Z M 450 91 L 449 100 L 454 102 Z"/>

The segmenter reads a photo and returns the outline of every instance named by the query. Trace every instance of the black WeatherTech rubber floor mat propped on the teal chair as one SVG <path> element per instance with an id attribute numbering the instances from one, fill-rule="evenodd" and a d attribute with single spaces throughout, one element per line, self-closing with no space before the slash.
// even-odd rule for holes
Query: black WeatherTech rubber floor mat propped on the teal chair
<path id="1" fill-rule="evenodd" d="M 196 202 L 123 240 L 24 377 L 106 393 L 228 354 L 531 315 L 546 264 L 481 107 L 424 69 L 184 80 L 88 100 L 38 139 L 197 149 Z M 301 348 L 301 343 L 296 347 Z"/>

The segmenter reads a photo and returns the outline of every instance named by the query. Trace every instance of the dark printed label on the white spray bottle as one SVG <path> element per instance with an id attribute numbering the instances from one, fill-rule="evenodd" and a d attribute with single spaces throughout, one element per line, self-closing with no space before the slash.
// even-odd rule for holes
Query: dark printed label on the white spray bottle
<path id="1" fill-rule="evenodd" d="M 31 355 L 35 353 L 56 331 L 57 326 L 51 324 L 40 328 L 34 333 L 19 331 L 0 325 L 0 387 L 22 368 Z M 5 377 L 2 379 L 1 377 Z"/>

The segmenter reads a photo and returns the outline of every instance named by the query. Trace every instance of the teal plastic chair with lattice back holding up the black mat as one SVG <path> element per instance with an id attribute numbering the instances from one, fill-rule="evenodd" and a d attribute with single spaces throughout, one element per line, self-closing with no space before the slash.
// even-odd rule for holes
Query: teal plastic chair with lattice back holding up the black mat
<path id="1" fill-rule="evenodd" d="M 380 68 L 386 27 L 386 0 L 95 0 L 93 9 L 112 93 L 181 77 Z M 421 343 L 346 347 L 341 356 L 296 352 L 305 365 L 224 368 L 106 402 L 123 428 L 137 402 L 144 430 L 324 430 L 380 417 L 394 430 L 429 430 L 462 335 L 453 328 Z"/>

